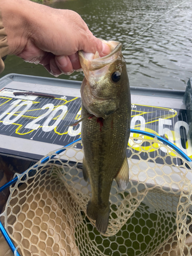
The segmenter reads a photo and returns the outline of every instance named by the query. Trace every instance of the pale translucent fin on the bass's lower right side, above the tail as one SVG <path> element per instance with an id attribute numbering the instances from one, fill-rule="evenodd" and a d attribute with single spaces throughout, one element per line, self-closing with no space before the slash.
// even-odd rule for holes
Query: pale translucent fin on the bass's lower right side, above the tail
<path id="1" fill-rule="evenodd" d="M 123 160 L 123 164 L 121 166 L 119 173 L 115 177 L 115 181 L 117 182 L 117 185 L 121 190 L 126 189 L 129 183 L 129 165 L 126 156 Z"/>

